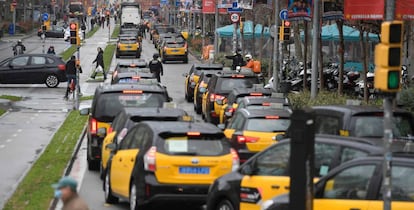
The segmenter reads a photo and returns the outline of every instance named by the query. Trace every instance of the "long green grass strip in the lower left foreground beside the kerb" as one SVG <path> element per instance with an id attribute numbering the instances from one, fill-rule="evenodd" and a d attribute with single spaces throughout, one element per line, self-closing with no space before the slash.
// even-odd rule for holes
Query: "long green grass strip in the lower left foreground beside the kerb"
<path id="1" fill-rule="evenodd" d="M 53 136 L 42 155 L 7 201 L 4 210 L 48 209 L 53 199 L 52 184 L 56 183 L 72 156 L 85 126 L 87 116 L 71 111 Z"/>

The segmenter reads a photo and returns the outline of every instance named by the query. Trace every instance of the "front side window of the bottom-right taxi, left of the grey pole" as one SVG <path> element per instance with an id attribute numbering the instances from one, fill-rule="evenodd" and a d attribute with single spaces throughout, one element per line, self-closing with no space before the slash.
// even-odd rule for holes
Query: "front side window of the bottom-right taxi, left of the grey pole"
<path id="1" fill-rule="evenodd" d="M 358 165 L 346 168 L 327 180 L 323 198 L 328 199 L 366 199 L 371 178 L 376 165 Z"/>

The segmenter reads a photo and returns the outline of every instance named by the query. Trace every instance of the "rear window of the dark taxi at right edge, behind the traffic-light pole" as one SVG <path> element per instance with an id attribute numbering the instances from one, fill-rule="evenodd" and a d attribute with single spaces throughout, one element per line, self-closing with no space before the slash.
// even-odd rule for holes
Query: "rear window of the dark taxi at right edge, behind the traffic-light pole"
<path id="1" fill-rule="evenodd" d="M 355 126 L 351 131 L 356 137 L 382 137 L 384 135 L 383 116 L 353 116 Z M 394 116 L 392 132 L 395 138 L 413 135 L 411 119 L 408 116 Z"/>

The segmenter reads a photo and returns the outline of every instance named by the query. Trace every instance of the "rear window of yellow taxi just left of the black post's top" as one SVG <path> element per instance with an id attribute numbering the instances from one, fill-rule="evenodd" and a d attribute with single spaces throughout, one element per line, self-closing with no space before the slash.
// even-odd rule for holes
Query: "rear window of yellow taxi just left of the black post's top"
<path id="1" fill-rule="evenodd" d="M 259 132 L 282 132 L 290 125 L 290 119 L 253 118 L 247 121 L 246 130 Z"/>

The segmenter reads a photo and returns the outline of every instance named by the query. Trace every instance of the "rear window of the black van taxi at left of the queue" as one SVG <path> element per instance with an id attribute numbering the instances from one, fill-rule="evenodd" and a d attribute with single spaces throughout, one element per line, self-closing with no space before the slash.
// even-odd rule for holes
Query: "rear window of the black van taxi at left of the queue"
<path id="1" fill-rule="evenodd" d="M 111 120 L 123 107 L 162 107 L 167 102 L 163 93 L 104 93 L 96 102 L 94 115 L 97 119 Z"/>

